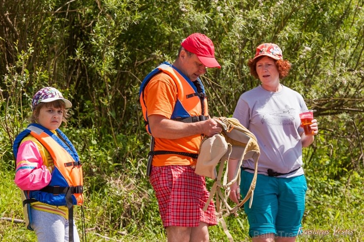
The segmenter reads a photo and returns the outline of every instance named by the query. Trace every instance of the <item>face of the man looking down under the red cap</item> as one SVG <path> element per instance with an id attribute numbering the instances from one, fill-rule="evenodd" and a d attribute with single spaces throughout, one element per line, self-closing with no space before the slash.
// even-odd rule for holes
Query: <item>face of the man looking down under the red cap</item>
<path id="1" fill-rule="evenodd" d="M 188 54 L 182 50 L 180 54 L 182 60 L 182 73 L 186 75 L 189 80 L 196 81 L 198 77 L 206 73 L 206 66 L 198 59 L 196 54 Z"/>

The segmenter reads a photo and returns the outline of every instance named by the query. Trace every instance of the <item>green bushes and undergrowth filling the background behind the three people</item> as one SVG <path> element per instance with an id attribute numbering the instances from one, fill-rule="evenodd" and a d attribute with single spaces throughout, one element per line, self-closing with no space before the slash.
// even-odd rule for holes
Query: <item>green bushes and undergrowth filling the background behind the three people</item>
<path id="1" fill-rule="evenodd" d="M 258 44 L 282 48 L 292 63 L 283 83 L 302 93 L 319 122 L 320 133 L 303 154 L 309 186 L 303 228 L 331 232 L 298 241 L 364 241 L 363 5 L 363 0 L 0 1 L 0 215 L 22 218 L 12 182 L 12 142 L 28 124 L 32 94 L 55 86 L 73 104 L 72 118 L 61 129 L 83 162 L 88 241 L 105 241 L 97 234 L 115 241 L 165 240 L 145 176 L 149 135 L 139 85 L 157 64 L 175 59 L 183 38 L 201 32 L 214 42 L 222 66 L 202 78 L 211 116 L 231 116 L 239 96 L 259 84 L 246 65 Z M 226 221 L 237 241 L 248 241 L 243 213 Z M 354 234 L 334 236 L 335 227 Z M 35 236 L 21 224 L 0 220 L 2 239 Z M 226 241 L 220 226 L 211 228 L 211 241 Z"/>

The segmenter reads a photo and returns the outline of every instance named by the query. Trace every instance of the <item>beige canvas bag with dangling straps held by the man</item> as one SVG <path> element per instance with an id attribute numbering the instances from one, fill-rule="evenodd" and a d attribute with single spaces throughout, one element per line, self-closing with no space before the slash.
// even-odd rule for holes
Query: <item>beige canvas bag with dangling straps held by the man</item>
<path id="1" fill-rule="evenodd" d="M 249 207 L 251 207 L 258 174 L 257 168 L 260 149 L 255 135 L 240 124 L 237 119 L 226 117 L 213 118 L 222 126 L 222 132 L 221 134 L 204 138 L 201 142 L 195 173 L 214 180 L 204 211 L 207 210 L 212 197 L 215 195 L 217 218 L 221 222 L 229 241 L 233 242 L 224 217 L 231 214 L 238 216 L 237 211 L 249 198 Z M 232 159 L 238 160 L 239 162 L 237 169 L 233 171 L 233 179 L 228 181 L 228 162 Z M 253 180 L 243 200 L 234 207 L 231 207 L 228 203 L 230 187 L 235 182 L 240 184 L 240 167 L 243 164 L 243 160 L 247 159 L 253 159 L 255 162 Z M 216 167 L 218 167 L 218 172 L 216 171 Z"/>

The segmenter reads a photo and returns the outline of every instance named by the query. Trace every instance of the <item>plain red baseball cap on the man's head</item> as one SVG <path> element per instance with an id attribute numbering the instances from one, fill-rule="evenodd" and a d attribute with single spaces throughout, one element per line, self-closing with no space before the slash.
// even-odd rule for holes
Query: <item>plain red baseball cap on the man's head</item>
<path id="1" fill-rule="evenodd" d="M 196 54 L 205 66 L 221 68 L 215 59 L 215 48 L 212 40 L 205 34 L 193 33 L 182 41 L 181 46 L 186 51 Z"/>

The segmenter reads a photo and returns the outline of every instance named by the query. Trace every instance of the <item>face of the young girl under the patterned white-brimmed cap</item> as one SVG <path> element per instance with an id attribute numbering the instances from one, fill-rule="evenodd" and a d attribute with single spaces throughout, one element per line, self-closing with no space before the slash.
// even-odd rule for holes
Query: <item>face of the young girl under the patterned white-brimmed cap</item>
<path id="1" fill-rule="evenodd" d="M 45 105 L 39 110 L 37 121 L 43 127 L 49 130 L 60 128 L 63 119 L 63 108 L 55 108 L 52 105 Z"/>

